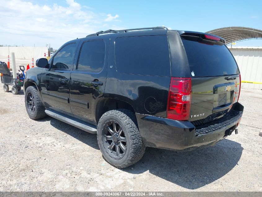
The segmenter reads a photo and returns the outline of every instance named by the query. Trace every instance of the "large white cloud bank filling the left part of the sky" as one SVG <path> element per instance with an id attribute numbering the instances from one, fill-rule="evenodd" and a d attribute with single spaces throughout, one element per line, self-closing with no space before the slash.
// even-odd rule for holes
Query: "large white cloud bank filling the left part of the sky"
<path id="1" fill-rule="evenodd" d="M 85 37 L 104 30 L 104 21 L 116 21 L 119 16 L 95 13 L 74 0 L 67 5 L 57 3 L 40 5 L 22 0 L 0 0 L 0 24 L 2 45 L 60 47 L 69 40 Z"/>

